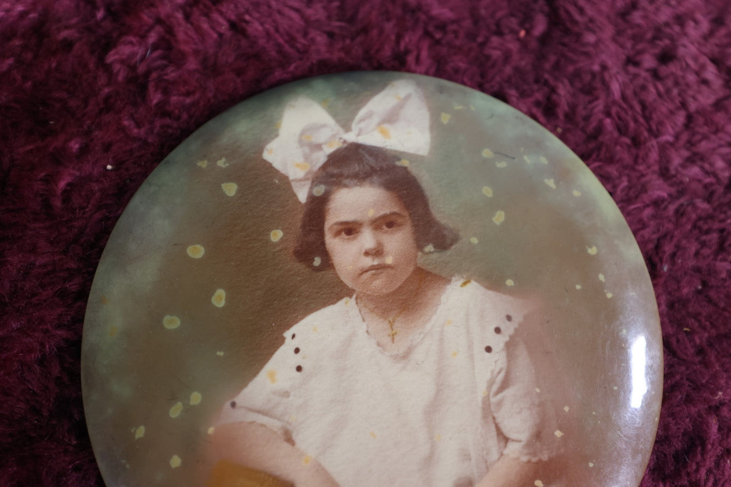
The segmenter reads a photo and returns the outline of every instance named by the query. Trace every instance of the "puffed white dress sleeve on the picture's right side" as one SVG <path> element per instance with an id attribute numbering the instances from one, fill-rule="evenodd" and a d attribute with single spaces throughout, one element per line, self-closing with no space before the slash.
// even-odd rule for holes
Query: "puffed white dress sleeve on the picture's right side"
<path id="1" fill-rule="evenodd" d="M 504 454 L 523 461 L 548 460 L 560 450 L 556 413 L 540 391 L 534 364 L 519 337 L 511 337 L 496 363 L 490 407 L 507 439 Z"/>

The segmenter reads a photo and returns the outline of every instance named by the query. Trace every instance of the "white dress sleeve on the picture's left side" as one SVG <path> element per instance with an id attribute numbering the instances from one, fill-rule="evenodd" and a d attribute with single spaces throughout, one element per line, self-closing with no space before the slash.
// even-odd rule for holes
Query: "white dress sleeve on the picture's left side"
<path id="1" fill-rule="evenodd" d="M 296 351 L 295 351 L 296 350 Z M 295 388 L 301 380 L 301 366 L 296 337 L 288 332 L 281 345 L 267 364 L 238 396 L 224 404 L 218 424 L 239 421 L 260 423 L 287 438 L 291 436 L 289 424 L 296 409 Z M 299 367 L 299 370 L 298 370 Z"/>

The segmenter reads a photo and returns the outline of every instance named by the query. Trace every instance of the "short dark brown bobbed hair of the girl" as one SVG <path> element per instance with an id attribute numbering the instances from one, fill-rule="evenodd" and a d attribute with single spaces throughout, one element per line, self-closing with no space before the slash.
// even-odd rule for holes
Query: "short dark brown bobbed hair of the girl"
<path id="1" fill-rule="evenodd" d="M 456 231 L 439 222 L 429 209 L 423 188 L 401 158 L 378 147 L 347 144 L 330 153 L 314 175 L 304 205 L 295 258 L 314 270 L 330 268 L 325 248 L 325 209 L 339 188 L 371 185 L 398 196 L 414 225 L 417 247 L 429 251 L 447 250 L 459 239 Z M 319 265 L 315 258 L 319 257 Z"/>

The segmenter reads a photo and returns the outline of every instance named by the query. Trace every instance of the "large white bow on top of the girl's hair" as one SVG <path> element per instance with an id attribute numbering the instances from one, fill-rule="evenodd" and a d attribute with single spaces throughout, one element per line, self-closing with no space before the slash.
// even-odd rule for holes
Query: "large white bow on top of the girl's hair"
<path id="1" fill-rule="evenodd" d="M 348 142 L 426 156 L 429 111 L 416 83 L 390 83 L 360 109 L 347 133 L 316 101 L 295 99 L 284 109 L 279 137 L 269 142 L 262 156 L 289 177 L 300 202 L 305 202 L 317 168 Z"/>

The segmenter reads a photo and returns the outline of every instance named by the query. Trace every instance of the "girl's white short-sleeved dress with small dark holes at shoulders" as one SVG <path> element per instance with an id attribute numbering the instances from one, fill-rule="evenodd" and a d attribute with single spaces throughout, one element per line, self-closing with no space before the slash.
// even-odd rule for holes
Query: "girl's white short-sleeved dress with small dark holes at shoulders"
<path id="1" fill-rule="evenodd" d="M 386 353 L 352 298 L 314 312 L 219 424 L 261 423 L 347 486 L 471 486 L 503 454 L 558 450 L 523 343 L 526 304 L 455 278 L 412 344 Z"/>

